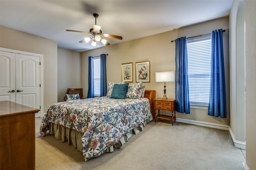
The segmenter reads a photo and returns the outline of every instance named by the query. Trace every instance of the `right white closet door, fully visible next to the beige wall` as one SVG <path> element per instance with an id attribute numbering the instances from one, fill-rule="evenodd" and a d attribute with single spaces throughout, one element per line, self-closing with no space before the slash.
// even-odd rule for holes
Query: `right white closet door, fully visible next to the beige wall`
<path id="1" fill-rule="evenodd" d="M 40 57 L 16 54 L 16 103 L 40 109 Z"/>

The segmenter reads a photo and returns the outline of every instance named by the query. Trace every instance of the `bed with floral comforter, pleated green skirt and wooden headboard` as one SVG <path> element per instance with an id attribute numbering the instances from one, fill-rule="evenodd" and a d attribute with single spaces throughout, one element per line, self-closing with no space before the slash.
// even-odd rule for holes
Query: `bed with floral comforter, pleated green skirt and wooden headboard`
<path id="1" fill-rule="evenodd" d="M 86 161 L 122 147 L 154 117 L 155 90 L 144 90 L 140 98 L 107 96 L 53 104 L 42 119 L 42 137 L 49 131 L 68 141 Z"/>

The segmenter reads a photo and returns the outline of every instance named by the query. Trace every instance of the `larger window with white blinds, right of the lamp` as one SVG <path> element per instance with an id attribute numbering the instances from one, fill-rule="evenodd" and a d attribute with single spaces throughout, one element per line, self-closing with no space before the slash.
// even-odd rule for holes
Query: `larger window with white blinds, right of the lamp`
<path id="1" fill-rule="evenodd" d="M 210 96 L 211 35 L 187 39 L 190 105 L 208 106 Z"/>

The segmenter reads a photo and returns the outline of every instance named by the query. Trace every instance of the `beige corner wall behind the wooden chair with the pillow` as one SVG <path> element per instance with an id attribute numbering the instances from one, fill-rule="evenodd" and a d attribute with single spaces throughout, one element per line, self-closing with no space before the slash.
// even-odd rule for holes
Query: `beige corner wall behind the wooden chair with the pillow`
<path id="1" fill-rule="evenodd" d="M 58 102 L 62 102 L 67 88 L 82 88 L 80 53 L 58 48 Z"/>

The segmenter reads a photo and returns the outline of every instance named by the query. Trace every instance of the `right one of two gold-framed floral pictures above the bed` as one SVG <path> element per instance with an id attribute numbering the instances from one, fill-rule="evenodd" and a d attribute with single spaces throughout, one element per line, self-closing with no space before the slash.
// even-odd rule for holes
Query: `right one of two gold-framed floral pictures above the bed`
<path id="1" fill-rule="evenodd" d="M 136 63 L 136 82 L 150 82 L 150 61 Z"/>

